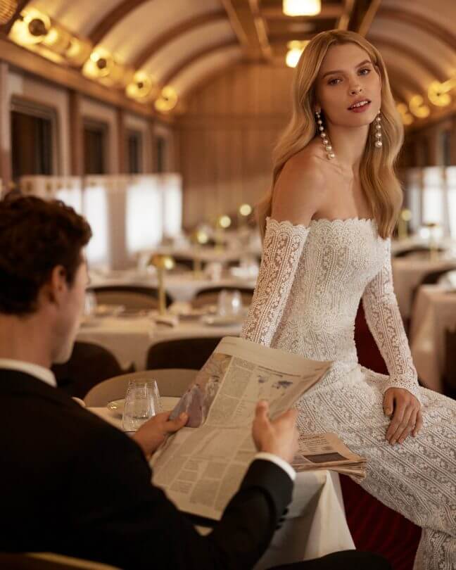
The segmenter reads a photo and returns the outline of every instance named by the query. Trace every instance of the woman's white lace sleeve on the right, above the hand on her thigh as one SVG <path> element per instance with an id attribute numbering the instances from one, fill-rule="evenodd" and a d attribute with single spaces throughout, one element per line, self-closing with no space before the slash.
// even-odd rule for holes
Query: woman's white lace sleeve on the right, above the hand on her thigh
<path id="1" fill-rule="evenodd" d="M 367 324 L 390 375 L 385 391 L 393 387 L 405 388 L 420 400 L 417 371 L 412 362 L 407 335 L 393 289 L 390 240 L 385 255 L 384 266 L 365 289 L 362 305 Z"/>

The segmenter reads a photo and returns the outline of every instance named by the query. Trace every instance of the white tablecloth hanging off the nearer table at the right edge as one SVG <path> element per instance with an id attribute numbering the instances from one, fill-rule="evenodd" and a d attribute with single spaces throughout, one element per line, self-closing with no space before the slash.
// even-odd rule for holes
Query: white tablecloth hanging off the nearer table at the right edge
<path id="1" fill-rule="evenodd" d="M 438 285 L 419 288 L 410 324 L 410 348 L 418 376 L 427 388 L 442 392 L 445 329 L 456 327 L 456 291 Z"/>

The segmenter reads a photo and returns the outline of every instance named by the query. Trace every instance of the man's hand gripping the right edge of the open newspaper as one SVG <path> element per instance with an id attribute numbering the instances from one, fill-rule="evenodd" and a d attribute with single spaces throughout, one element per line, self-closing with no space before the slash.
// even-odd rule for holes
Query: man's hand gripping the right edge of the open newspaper
<path id="1" fill-rule="evenodd" d="M 291 463 L 298 451 L 298 430 L 296 410 L 288 410 L 272 422 L 269 418 L 269 404 L 260 401 L 255 410 L 252 436 L 258 451 L 273 453 Z"/>

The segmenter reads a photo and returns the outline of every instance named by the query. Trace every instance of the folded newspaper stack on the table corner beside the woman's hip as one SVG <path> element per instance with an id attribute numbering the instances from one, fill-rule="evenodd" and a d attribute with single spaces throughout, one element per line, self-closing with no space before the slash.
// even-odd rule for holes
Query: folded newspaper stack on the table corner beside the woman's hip
<path id="1" fill-rule="evenodd" d="M 365 458 L 352 453 L 336 433 L 303 433 L 292 465 L 296 471 L 332 469 L 359 482 L 366 476 L 366 464 Z"/>

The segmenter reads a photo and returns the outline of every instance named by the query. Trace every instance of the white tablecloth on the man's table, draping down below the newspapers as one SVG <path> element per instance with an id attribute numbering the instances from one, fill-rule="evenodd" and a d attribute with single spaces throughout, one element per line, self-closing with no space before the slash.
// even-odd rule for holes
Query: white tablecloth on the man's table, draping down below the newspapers
<path id="1" fill-rule="evenodd" d="M 177 398 L 162 398 L 164 409 L 172 404 L 171 400 Z M 120 427 L 120 416 L 114 416 L 106 408 L 89 410 Z M 289 513 L 255 570 L 354 548 L 338 475 L 334 471 L 298 473 Z"/>

